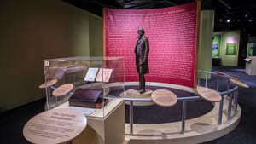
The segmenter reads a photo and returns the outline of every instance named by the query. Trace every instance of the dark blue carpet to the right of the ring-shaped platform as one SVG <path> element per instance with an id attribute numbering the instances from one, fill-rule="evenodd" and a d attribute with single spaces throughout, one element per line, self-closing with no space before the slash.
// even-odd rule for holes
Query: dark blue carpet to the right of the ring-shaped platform
<path id="1" fill-rule="evenodd" d="M 204 144 L 255 144 L 256 143 L 256 76 L 249 76 L 244 69 L 237 67 L 213 67 L 213 71 L 226 72 L 241 79 L 250 86 L 240 88 L 238 103 L 241 107 L 241 121 L 235 130 Z"/>

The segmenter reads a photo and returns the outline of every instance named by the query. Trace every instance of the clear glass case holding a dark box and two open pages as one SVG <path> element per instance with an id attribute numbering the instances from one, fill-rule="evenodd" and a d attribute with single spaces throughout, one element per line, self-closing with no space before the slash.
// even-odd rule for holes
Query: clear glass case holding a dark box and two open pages
<path id="1" fill-rule="evenodd" d="M 124 59 L 68 57 L 44 60 L 46 109 L 70 107 L 85 115 L 104 117 L 106 107 L 123 101 Z M 120 99 L 119 99 L 120 98 Z"/>

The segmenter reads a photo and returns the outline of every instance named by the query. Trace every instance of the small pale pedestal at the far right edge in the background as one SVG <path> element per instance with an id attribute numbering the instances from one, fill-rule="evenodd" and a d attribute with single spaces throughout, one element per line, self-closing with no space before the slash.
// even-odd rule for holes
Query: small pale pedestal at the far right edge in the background
<path id="1" fill-rule="evenodd" d="M 249 56 L 245 59 L 246 69 L 248 75 L 256 75 L 256 56 Z"/>

